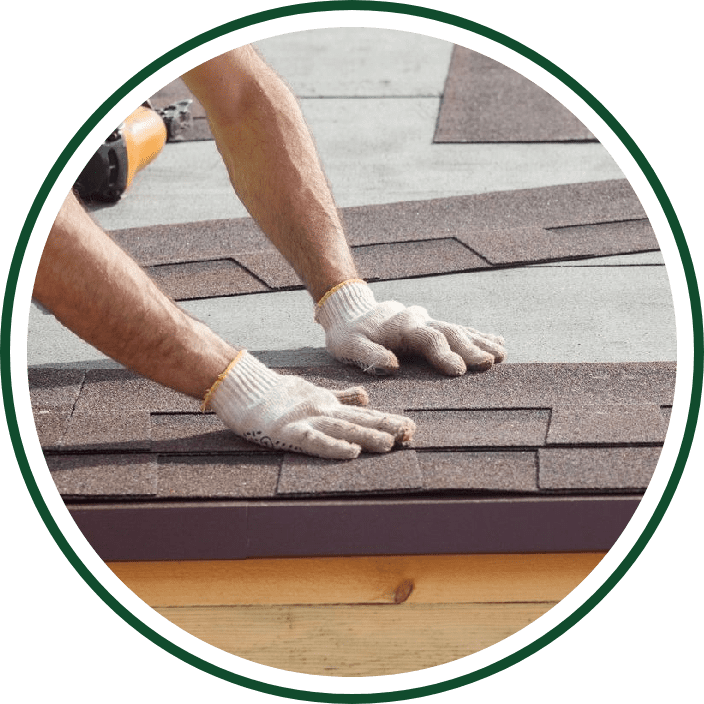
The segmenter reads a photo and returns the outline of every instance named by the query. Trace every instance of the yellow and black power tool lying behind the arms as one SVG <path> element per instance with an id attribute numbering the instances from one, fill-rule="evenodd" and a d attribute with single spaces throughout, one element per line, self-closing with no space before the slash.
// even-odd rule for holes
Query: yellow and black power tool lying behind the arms
<path id="1" fill-rule="evenodd" d="M 190 129 L 192 100 L 155 110 L 142 103 L 93 154 L 74 184 L 83 201 L 116 203 L 135 174 L 150 164 L 167 141 L 181 141 Z"/>

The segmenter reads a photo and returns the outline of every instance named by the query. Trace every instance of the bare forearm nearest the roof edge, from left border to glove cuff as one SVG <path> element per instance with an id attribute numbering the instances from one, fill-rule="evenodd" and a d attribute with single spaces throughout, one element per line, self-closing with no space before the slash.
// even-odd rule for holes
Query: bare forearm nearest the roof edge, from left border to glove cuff
<path id="1" fill-rule="evenodd" d="M 104 354 L 196 398 L 236 354 L 159 291 L 72 193 L 49 234 L 34 297 Z"/>

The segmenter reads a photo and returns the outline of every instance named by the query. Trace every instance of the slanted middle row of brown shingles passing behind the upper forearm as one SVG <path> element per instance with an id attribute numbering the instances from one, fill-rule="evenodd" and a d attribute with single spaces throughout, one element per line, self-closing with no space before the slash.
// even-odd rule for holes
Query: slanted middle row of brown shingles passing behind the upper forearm
<path id="1" fill-rule="evenodd" d="M 626 180 L 345 208 L 341 215 L 370 281 L 659 249 Z M 251 219 L 112 236 L 177 300 L 301 288 Z"/>

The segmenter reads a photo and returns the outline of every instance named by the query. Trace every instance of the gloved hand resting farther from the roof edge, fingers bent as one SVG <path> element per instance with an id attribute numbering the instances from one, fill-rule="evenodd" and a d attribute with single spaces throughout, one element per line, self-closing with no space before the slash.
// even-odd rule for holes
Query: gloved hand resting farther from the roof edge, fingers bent
<path id="1" fill-rule="evenodd" d="M 464 374 L 468 367 L 488 369 L 506 357 L 503 338 L 433 320 L 419 306 L 377 303 L 369 286 L 358 279 L 325 294 L 315 319 L 325 328 L 325 346 L 333 357 L 369 374 L 398 369 L 394 352 L 425 357 L 450 376 Z"/>

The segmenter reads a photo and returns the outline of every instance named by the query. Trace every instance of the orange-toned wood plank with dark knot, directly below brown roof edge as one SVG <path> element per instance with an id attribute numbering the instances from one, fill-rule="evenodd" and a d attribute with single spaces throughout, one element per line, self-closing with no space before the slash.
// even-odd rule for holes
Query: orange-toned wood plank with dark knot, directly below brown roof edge
<path id="1" fill-rule="evenodd" d="M 560 601 L 604 553 L 109 562 L 152 607 Z"/>

